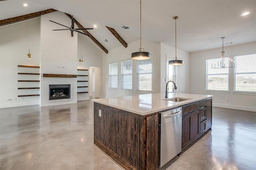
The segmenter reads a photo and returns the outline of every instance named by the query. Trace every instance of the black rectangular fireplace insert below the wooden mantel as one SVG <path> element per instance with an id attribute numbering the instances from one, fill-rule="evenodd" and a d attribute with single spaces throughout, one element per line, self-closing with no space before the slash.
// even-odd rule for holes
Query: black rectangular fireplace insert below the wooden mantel
<path id="1" fill-rule="evenodd" d="M 70 99 L 70 84 L 49 84 L 49 100 Z"/>

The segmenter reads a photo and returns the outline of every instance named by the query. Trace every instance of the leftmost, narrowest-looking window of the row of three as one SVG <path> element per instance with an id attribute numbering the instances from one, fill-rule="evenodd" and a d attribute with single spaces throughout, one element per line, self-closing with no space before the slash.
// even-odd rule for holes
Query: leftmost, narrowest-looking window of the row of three
<path id="1" fill-rule="evenodd" d="M 118 88 L 118 63 L 109 63 L 109 88 Z"/>

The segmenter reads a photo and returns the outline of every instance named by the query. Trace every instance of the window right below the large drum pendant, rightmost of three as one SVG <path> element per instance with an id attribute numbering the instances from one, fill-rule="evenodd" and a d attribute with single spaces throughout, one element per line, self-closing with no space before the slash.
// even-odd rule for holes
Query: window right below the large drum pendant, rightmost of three
<path id="1" fill-rule="evenodd" d="M 152 58 L 137 62 L 137 90 L 152 91 Z"/>

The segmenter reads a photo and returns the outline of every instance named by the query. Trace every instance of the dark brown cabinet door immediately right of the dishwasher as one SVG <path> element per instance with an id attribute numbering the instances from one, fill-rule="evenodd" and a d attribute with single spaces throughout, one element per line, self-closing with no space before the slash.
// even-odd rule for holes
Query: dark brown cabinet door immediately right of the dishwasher
<path id="1" fill-rule="evenodd" d="M 186 146 L 188 146 L 192 142 L 192 137 L 191 137 L 191 127 L 192 127 L 191 115 L 192 114 L 182 116 L 182 149 L 185 148 Z"/>

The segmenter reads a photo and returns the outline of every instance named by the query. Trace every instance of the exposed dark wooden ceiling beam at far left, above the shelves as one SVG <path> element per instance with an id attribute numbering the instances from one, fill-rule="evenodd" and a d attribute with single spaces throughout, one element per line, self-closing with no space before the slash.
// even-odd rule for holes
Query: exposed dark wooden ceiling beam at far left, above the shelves
<path id="1" fill-rule="evenodd" d="M 0 26 L 8 25 L 8 24 L 11 24 L 11 23 L 16 23 L 16 22 L 19 22 L 19 21 L 28 20 L 28 19 L 31 19 L 31 18 L 36 18 L 36 17 L 42 16 L 44 14 L 49 14 L 49 13 L 55 12 L 55 11 L 58 11 L 58 10 L 48 9 L 48 10 L 43 10 L 43 11 L 39 11 L 39 12 L 34 12 L 34 13 L 31 13 L 31 14 L 26 14 L 26 15 L 23 15 L 23 16 L 18 16 L 18 17 L 13 17 L 13 18 L 1 20 L 0 21 Z"/>

